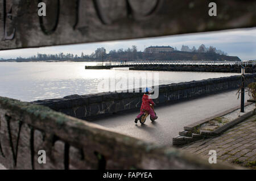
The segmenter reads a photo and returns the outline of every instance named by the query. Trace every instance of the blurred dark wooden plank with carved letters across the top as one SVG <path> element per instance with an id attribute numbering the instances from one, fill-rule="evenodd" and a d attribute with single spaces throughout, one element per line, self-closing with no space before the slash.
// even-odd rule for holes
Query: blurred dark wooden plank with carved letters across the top
<path id="1" fill-rule="evenodd" d="M 39 16 L 38 3 L 46 3 Z M 256 1 L 2 0 L 0 50 L 176 35 L 256 25 Z M 40 6 L 41 7 L 41 6 Z M 42 11 L 39 11 L 42 12 Z"/>

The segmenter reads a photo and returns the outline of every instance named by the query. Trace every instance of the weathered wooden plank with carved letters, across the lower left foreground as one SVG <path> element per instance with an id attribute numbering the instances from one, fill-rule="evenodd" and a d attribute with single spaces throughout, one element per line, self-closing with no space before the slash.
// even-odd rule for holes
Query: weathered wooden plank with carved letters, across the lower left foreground
<path id="1" fill-rule="evenodd" d="M 38 163 L 39 150 L 46 151 L 46 164 Z M 239 169 L 3 97 L 0 163 L 6 169 Z"/>

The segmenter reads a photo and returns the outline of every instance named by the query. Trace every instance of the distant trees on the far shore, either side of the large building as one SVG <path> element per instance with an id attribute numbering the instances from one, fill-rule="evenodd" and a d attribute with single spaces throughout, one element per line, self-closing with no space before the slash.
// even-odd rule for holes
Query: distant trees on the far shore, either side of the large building
<path id="1" fill-rule="evenodd" d="M 181 51 L 181 52 L 180 52 Z M 223 52 L 222 50 L 217 50 L 215 47 L 210 46 L 209 48 L 205 47 L 204 44 L 201 44 L 198 49 L 189 48 L 187 45 L 182 45 L 181 49 L 177 50 L 174 48 L 174 52 L 195 52 L 195 53 L 210 53 L 210 54 L 220 54 L 220 55 L 228 55 L 227 53 Z M 170 59 L 169 57 L 172 56 L 170 52 L 161 52 L 166 54 L 166 58 Z M 110 50 L 109 53 L 106 53 L 106 49 L 104 47 L 97 48 L 92 54 L 84 54 L 83 52 L 81 55 L 73 54 L 73 53 L 66 53 L 60 52 L 58 54 L 42 54 L 38 53 L 37 55 L 23 58 L 17 57 L 16 59 L 3 59 L 2 61 L 8 60 L 16 60 L 16 61 L 134 61 L 134 60 L 152 60 L 151 53 L 147 53 L 145 50 L 138 51 L 137 46 L 133 45 L 131 48 L 123 49 L 120 48 L 118 50 Z"/>

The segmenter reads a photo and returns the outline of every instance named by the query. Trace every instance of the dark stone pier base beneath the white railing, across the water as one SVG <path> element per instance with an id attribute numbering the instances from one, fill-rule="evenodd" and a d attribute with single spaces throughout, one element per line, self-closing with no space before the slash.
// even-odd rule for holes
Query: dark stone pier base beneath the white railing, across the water
<path id="1" fill-rule="evenodd" d="M 156 71 L 206 71 L 206 72 L 226 72 L 241 73 L 241 66 L 230 65 L 115 65 L 115 66 L 85 66 L 85 69 L 112 69 L 130 67 L 130 70 L 156 70 Z M 246 66 L 246 73 L 255 73 L 255 66 Z"/>

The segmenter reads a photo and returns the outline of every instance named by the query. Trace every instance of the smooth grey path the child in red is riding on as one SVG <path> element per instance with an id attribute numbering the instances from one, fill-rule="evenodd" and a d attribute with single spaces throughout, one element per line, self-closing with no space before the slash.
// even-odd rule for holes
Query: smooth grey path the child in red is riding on
<path id="1" fill-rule="evenodd" d="M 139 113 L 139 109 L 137 112 L 122 112 L 102 117 L 93 123 L 141 140 L 172 146 L 172 138 L 183 131 L 184 126 L 239 106 L 240 100 L 237 99 L 236 92 L 237 90 L 221 92 L 165 106 L 156 105 L 155 111 L 158 119 L 155 123 L 151 123 L 148 117 L 144 125 L 140 123 L 136 125 L 134 119 Z M 245 100 L 248 98 L 249 96 L 246 94 Z"/>

